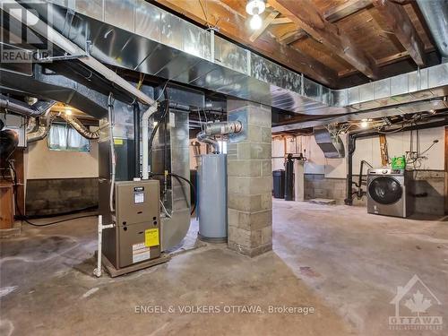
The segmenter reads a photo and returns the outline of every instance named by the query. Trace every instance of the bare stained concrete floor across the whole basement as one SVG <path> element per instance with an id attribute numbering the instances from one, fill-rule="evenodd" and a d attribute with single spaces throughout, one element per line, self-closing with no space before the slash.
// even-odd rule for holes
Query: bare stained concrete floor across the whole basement
<path id="1" fill-rule="evenodd" d="M 0 240 L 0 335 L 446 334 L 447 221 L 306 202 L 274 200 L 273 206 L 268 254 L 250 259 L 222 245 L 202 245 L 116 279 L 91 275 L 94 218 L 24 226 L 21 237 Z M 195 230 L 183 249 L 194 246 Z M 444 331 L 389 330 L 389 302 L 414 274 L 441 301 L 429 309 L 444 316 Z M 136 306 L 165 313 L 138 314 Z M 202 307 L 202 313 L 182 313 L 183 306 Z M 211 307 L 204 313 L 203 306 L 220 313 Z M 315 312 L 270 314 L 269 306 Z"/>

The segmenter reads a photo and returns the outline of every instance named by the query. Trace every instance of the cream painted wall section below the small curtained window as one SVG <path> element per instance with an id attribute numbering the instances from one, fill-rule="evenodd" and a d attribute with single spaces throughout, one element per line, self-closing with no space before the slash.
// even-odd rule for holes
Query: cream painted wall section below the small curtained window
<path id="1" fill-rule="evenodd" d="M 98 142 L 90 140 L 90 151 L 50 151 L 47 139 L 30 143 L 26 154 L 26 177 L 98 177 Z"/>

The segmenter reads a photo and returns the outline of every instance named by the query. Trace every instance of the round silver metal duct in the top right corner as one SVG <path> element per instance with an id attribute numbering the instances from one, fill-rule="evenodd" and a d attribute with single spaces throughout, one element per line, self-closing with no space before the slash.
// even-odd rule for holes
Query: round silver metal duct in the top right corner
<path id="1" fill-rule="evenodd" d="M 417 0 L 442 62 L 448 62 L 448 0 Z"/>

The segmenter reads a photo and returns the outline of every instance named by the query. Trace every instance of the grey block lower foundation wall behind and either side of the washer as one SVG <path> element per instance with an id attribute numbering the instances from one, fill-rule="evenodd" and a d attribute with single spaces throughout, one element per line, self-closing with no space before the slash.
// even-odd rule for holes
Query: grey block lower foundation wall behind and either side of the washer
<path id="1" fill-rule="evenodd" d="M 358 182 L 358 176 L 353 176 Z M 444 171 L 420 170 L 414 172 L 410 192 L 416 197 L 414 209 L 418 213 L 444 215 Z M 345 178 L 327 178 L 323 174 L 305 174 L 305 199 L 329 198 L 339 204 L 346 198 L 347 181 Z M 366 190 L 366 186 L 363 186 Z M 353 199 L 353 205 L 366 206 L 367 197 Z"/>

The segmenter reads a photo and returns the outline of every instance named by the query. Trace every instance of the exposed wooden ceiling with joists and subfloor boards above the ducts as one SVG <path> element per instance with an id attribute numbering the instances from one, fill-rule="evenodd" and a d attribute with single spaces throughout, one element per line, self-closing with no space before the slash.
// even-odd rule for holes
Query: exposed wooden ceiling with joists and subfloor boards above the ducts
<path id="1" fill-rule="evenodd" d="M 415 1 L 268 0 L 259 30 L 248 25 L 246 1 L 151 2 L 332 88 L 437 62 Z"/>

